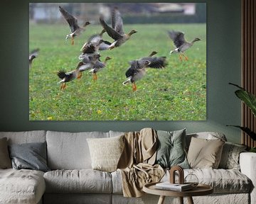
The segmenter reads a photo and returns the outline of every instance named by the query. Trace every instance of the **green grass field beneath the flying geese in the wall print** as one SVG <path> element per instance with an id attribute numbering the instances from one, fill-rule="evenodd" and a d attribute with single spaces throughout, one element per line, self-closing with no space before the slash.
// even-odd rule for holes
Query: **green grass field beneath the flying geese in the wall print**
<path id="1" fill-rule="evenodd" d="M 68 24 L 31 24 L 29 50 L 38 47 L 40 52 L 29 70 L 29 120 L 206 120 L 206 24 L 124 24 L 125 32 L 132 29 L 138 33 L 124 45 L 100 52 L 102 60 L 112 60 L 98 72 L 97 81 L 85 71 L 60 91 L 56 73 L 75 69 L 83 43 L 102 28 L 88 26 L 70 45 L 65 41 Z M 169 55 L 174 45 L 166 30 L 171 29 L 185 32 L 188 41 L 202 39 L 186 51 L 188 61 Z M 122 85 L 128 62 L 153 50 L 159 52 L 156 56 L 166 56 L 168 66 L 147 69 L 137 91 Z"/>

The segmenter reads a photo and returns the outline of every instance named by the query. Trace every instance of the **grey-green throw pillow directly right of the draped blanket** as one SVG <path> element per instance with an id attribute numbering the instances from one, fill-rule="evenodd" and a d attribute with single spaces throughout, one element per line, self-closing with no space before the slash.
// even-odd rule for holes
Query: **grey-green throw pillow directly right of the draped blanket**
<path id="1" fill-rule="evenodd" d="M 186 129 L 167 132 L 158 130 L 158 148 L 156 150 L 156 164 L 163 168 L 181 166 L 188 169 L 188 161 L 185 152 Z"/>

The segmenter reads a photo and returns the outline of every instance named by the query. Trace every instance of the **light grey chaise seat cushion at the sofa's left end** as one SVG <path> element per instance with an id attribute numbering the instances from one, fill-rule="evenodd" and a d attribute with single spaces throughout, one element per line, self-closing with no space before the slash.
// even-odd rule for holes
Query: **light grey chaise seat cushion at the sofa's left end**
<path id="1" fill-rule="evenodd" d="M 0 203 L 38 203 L 45 190 L 43 171 L 0 169 Z"/>

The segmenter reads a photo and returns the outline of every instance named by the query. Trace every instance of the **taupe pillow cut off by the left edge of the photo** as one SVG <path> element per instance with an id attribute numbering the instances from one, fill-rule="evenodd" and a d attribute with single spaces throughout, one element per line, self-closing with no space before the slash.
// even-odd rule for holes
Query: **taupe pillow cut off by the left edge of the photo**
<path id="1" fill-rule="evenodd" d="M 11 168 L 11 159 L 9 157 L 7 138 L 0 139 L 0 169 Z"/>

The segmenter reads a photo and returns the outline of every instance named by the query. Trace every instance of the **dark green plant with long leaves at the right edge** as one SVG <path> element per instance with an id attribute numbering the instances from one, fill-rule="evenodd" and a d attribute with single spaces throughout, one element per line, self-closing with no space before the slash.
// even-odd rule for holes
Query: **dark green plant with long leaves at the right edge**
<path id="1" fill-rule="evenodd" d="M 241 86 L 238 86 L 237 84 L 232 84 L 232 83 L 229 83 L 229 84 L 239 88 L 237 91 L 235 91 L 235 95 L 238 96 L 238 98 L 240 98 L 240 100 L 242 100 L 245 103 L 245 105 L 250 108 L 253 115 L 256 117 L 256 96 L 253 94 L 250 94 L 248 91 L 246 91 Z M 250 128 L 242 127 L 239 125 L 227 125 L 227 126 L 240 128 L 243 132 L 249 135 L 252 138 L 252 140 L 256 140 L 256 132 L 253 132 L 252 130 L 250 130 Z M 250 152 L 256 152 L 256 147 L 252 147 L 250 149 Z"/>

